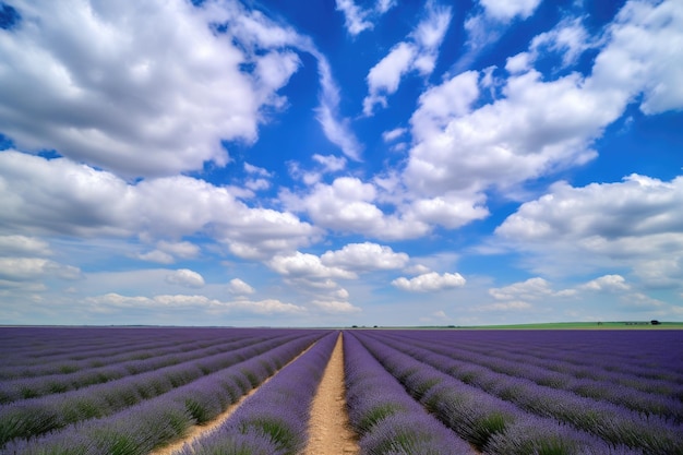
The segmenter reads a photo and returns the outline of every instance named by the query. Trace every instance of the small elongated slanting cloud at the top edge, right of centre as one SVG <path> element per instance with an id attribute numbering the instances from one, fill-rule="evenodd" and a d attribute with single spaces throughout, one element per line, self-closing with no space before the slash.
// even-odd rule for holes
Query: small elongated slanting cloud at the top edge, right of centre
<path id="1" fill-rule="evenodd" d="M 423 76 L 431 74 L 451 17 L 450 8 L 428 2 L 426 17 L 418 23 L 408 39 L 394 46 L 368 73 L 368 96 L 363 100 L 366 116 L 371 116 L 378 104 L 386 107 L 386 96 L 398 89 L 402 77 L 408 72 L 417 71 Z"/>

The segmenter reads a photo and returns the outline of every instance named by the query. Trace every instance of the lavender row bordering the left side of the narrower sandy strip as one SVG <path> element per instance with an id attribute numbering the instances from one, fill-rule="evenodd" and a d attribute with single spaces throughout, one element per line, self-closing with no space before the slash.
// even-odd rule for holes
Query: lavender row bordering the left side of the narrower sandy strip
<path id="1" fill-rule="evenodd" d="M 143 455 L 180 438 L 194 423 L 216 417 L 230 404 L 301 352 L 321 333 L 297 338 L 249 360 L 143 402 L 107 418 L 79 422 L 44 438 L 14 441 L 0 454 Z"/>

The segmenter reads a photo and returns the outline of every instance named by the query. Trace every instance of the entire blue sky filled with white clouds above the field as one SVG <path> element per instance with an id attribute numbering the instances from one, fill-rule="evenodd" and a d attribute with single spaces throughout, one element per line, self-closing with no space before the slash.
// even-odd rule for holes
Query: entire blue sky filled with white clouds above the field
<path id="1" fill-rule="evenodd" d="M 0 324 L 683 321 L 683 2 L 3 0 Z"/>

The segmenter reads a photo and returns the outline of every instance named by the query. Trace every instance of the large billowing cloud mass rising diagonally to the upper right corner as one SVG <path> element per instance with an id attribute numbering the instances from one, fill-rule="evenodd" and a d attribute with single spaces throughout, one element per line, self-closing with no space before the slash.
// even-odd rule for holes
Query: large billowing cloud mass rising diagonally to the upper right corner
<path id="1" fill-rule="evenodd" d="M 683 55 L 674 58 L 681 48 L 662 46 L 683 37 L 679 10 L 675 2 L 628 3 L 609 27 L 588 76 L 572 72 L 548 80 L 527 57 L 526 63 L 511 64 L 514 72 L 500 82 L 502 96 L 479 107 L 474 101 L 488 83 L 484 73 L 460 73 L 431 87 L 411 119 L 416 142 L 406 185 L 430 197 L 448 191 L 472 197 L 490 189 L 510 192 L 595 158 L 592 142 L 638 94 L 646 113 L 680 108 L 679 87 L 671 81 L 682 65 L 672 62 L 683 61 Z M 558 32 L 542 40 L 574 49 L 576 58 L 580 39 Z"/>

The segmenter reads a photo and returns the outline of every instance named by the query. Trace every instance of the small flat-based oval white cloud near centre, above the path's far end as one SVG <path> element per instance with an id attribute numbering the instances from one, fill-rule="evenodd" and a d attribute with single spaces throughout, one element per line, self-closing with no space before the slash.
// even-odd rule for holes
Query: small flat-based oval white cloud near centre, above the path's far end
<path id="1" fill-rule="evenodd" d="M 349 243 L 321 256 L 323 264 L 348 271 L 402 268 L 408 261 L 408 254 L 395 253 L 390 247 L 371 242 Z"/>

